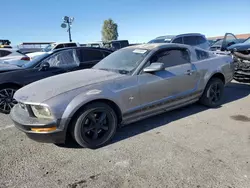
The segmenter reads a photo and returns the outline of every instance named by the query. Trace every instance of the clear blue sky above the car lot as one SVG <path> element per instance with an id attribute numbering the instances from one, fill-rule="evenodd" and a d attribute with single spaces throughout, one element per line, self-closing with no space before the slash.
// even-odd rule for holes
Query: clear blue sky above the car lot
<path id="1" fill-rule="evenodd" d="M 131 43 L 186 32 L 250 33 L 250 0 L 6 0 L 0 9 L 0 38 L 12 44 L 68 41 L 65 15 L 75 18 L 72 39 L 80 43 L 101 40 L 108 18 Z"/>

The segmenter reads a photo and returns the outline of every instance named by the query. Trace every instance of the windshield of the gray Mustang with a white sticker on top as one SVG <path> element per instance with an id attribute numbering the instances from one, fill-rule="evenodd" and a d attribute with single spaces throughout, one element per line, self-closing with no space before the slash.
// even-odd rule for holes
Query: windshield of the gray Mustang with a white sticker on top
<path id="1" fill-rule="evenodd" d="M 146 49 L 122 48 L 101 60 L 93 68 L 132 74 L 148 52 Z"/>

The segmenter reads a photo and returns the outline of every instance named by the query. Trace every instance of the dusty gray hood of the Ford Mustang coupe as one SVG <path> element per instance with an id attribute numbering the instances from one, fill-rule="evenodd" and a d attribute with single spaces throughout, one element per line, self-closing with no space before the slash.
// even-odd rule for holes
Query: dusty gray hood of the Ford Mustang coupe
<path id="1" fill-rule="evenodd" d="M 62 93 L 112 80 L 125 75 L 98 69 L 84 69 L 33 82 L 19 89 L 14 98 L 19 102 L 42 103 Z"/>

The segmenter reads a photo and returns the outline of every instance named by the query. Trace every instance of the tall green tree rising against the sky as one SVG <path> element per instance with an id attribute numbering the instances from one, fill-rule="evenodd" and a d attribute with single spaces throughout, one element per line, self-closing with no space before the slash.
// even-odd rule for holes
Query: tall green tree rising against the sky
<path id="1" fill-rule="evenodd" d="M 117 40 L 118 36 L 118 25 L 112 19 L 104 20 L 102 26 L 102 40 L 105 42 Z"/>

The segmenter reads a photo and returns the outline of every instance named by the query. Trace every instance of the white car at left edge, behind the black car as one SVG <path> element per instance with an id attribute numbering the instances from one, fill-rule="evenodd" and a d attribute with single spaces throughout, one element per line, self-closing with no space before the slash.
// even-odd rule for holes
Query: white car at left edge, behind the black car
<path id="1" fill-rule="evenodd" d="M 0 48 L 0 64 L 15 64 L 22 66 L 30 61 L 30 57 L 16 49 Z"/>

